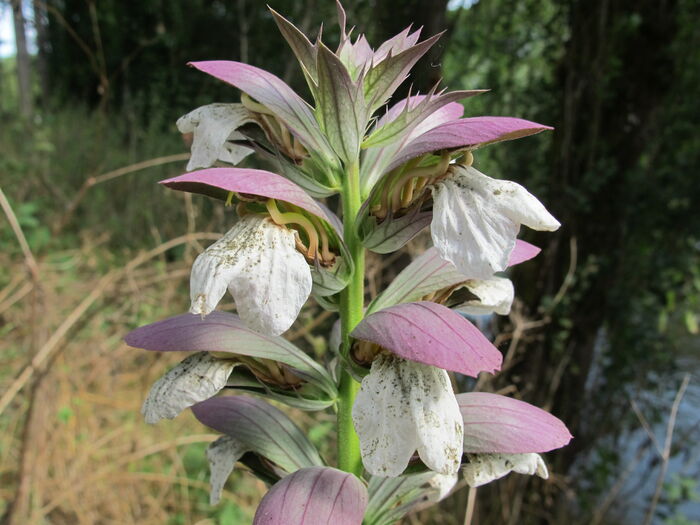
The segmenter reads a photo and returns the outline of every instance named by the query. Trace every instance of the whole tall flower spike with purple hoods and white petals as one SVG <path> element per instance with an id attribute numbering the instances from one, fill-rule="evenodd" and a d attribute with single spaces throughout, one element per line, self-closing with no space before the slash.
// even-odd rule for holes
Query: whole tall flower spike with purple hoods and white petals
<path id="1" fill-rule="evenodd" d="M 178 120 L 192 139 L 187 169 L 205 169 L 162 184 L 219 199 L 238 219 L 194 261 L 192 313 L 125 337 L 137 348 L 188 352 L 153 385 L 142 412 L 156 422 L 191 407 L 224 434 L 207 450 L 211 502 L 243 463 L 271 487 L 254 525 L 391 525 L 447 496 L 460 470 L 472 487 L 510 472 L 546 478 L 539 454 L 571 439 L 532 405 L 453 390 L 463 384 L 458 374 L 501 367 L 500 351 L 467 315 L 509 313 L 513 283 L 497 274 L 539 252 L 517 239 L 520 226 L 559 227 L 525 188 L 477 171 L 474 151 L 551 128 L 463 118 L 458 101 L 485 90 L 439 83 L 383 109 L 440 34 L 419 41 L 421 30 L 408 27 L 375 50 L 348 25 L 340 0 L 336 10 L 340 41 L 331 49 L 323 26 L 312 40 L 270 9 L 312 103 L 251 65 L 190 64 L 240 90 L 240 104 Z M 213 167 L 252 153 L 271 171 Z M 342 209 L 342 220 L 331 209 Z M 433 247 L 386 289 L 372 289 L 367 305 L 365 250 L 398 250 L 428 226 Z M 215 311 L 227 291 L 237 315 Z M 310 294 L 339 313 L 289 336 L 304 334 L 313 353 L 279 336 Z M 330 326 L 328 341 L 310 332 Z M 338 470 L 260 397 L 335 409 Z"/>

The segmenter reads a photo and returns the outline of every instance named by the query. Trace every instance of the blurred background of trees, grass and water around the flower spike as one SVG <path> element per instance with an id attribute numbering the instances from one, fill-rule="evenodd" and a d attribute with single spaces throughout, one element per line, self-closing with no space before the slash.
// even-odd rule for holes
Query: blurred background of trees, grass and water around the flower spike
<path id="1" fill-rule="evenodd" d="M 490 88 L 466 102 L 467 115 L 556 128 L 476 156 L 477 168 L 525 184 L 564 224 L 553 236 L 527 232 L 544 250 L 514 273 L 519 300 L 494 321 L 506 371 L 479 386 L 544 406 L 576 439 L 548 455 L 548 482 L 511 476 L 480 489 L 473 523 L 641 522 L 647 499 L 614 490 L 635 455 L 646 475 L 660 460 L 648 437 L 626 447 L 641 426 L 630 400 L 663 427 L 679 372 L 692 371 L 696 383 L 699 375 L 700 5 L 348 4 L 351 23 L 375 44 L 411 21 L 426 34 L 448 28 L 414 89 L 440 77 L 452 89 Z M 333 2 L 270 5 L 309 34 L 325 21 L 324 39 L 337 39 Z M 264 486 L 237 472 L 227 503 L 208 506 L 203 448 L 212 436 L 190 416 L 141 422 L 140 400 L 171 360 L 129 350 L 121 336 L 186 308 L 189 265 L 212 238 L 201 232 L 230 224 L 230 211 L 156 184 L 184 168 L 177 117 L 238 99 L 186 62 L 247 61 L 302 93 L 303 79 L 252 0 L 35 0 L 24 13 L 38 48 L 24 93 L 33 104 L 22 116 L 21 65 L 3 59 L 0 184 L 39 273 L 9 221 L 0 223 L 0 392 L 30 370 L 0 405 L 0 515 L 10 523 L 246 523 Z M 369 263 L 370 288 L 398 269 Z M 48 358 L 28 367 L 76 312 Z M 310 350 L 323 346 L 322 330 L 308 329 L 319 313 L 310 305 L 291 332 Z M 697 499 L 697 411 L 688 417 L 673 448 L 683 467 L 666 479 L 659 523 L 698 518 L 684 514 Z M 319 440 L 330 431 L 328 421 L 299 419 Z M 406 521 L 462 523 L 466 498 L 461 490 L 441 511 Z"/>

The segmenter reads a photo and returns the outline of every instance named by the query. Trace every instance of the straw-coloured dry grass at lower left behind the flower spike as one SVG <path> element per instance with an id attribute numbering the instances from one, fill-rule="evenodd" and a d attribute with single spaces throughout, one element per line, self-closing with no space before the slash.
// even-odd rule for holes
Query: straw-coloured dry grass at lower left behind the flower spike
<path id="1" fill-rule="evenodd" d="M 122 342 L 186 307 L 189 263 L 164 253 L 105 272 L 110 255 L 85 239 L 38 260 L 36 282 L 21 255 L 0 256 L 0 514 L 10 523 L 203 523 L 222 512 L 206 504 L 203 450 L 215 436 L 189 413 L 157 426 L 139 415 L 151 383 L 182 356 Z M 264 490 L 251 476 L 237 484 L 228 500 L 242 510 L 230 516 L 247 521 Z"/>

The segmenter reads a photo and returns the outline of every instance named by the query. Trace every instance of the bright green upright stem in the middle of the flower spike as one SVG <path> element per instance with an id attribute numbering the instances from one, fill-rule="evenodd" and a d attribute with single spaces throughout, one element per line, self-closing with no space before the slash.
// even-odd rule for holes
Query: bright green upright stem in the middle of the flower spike
<path id="1" fill-rule="evenodd" d="M 365 249 L 355 234 L 355 218 L 361 205 L 359 165 L 355 162 L 348 167 L 343 181 L 344 239 L 355 266 L 350 283 L 340 293 L 341 352 L 346 358 L 350 350 L 349 334 L 364 316 Z M 362 474 L 362 458 L 360 440 L 352 424 L 352 406 L 359 389 L 360 384 L 347 369 L 343 370 L 338 401 L 338 467 L 358 477 Z"/>

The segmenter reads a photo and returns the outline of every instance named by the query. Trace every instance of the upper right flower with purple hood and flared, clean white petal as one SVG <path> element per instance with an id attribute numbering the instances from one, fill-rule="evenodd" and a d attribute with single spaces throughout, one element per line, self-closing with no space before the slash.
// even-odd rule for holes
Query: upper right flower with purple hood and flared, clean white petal
<path id="1" fill-rule="evenodd" d="M 465 275 L 504 270 L 521 224 L 553 231 L 559 222 L 519 184 L 473 168 L 472 150 L 546 129 L 508 117 L 451 118 L 422 134 L 404 131 L 400 147 L 370 148 L 364 181 L 373 189 L 358 227 L 365 246 L 394 251 L 430 224 L 441 257 Z"/>

